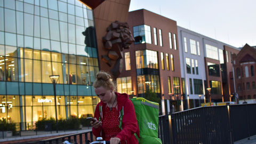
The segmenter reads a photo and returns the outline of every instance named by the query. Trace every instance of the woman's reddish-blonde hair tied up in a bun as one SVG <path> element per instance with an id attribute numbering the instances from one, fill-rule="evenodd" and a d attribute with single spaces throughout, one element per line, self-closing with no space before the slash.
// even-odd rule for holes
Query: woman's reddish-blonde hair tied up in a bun
<path id="1" fill-rule="evenodd" d="M 94 88 L 98 88 L 100 86 L 103 86 L 105 89 L 110 90 L 111 87 L 113 87 L 113 90 L 116 90 L 116 84 L 110 80 L 112 77 L 109 73 L 106 71 L 99 71 L 96 74 L 96 80 L 93 83 Z"/>

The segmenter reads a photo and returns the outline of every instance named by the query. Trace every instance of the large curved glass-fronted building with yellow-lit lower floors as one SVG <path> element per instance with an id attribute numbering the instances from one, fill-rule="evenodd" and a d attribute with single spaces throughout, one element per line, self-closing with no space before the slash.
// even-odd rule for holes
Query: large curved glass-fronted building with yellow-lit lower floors
<path id="1" fill-rule="evenodd" d="M 87 117 L 99 102 L 93 11 L 75 0 L 0 1 L 0 118 Z M 54 99 L 50 75 L 59 75 Z"/>

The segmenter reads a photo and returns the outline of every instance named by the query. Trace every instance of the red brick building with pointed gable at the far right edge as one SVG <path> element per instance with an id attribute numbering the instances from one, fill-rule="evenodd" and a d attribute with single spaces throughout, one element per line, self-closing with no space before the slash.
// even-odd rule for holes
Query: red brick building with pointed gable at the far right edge
<path id="1" fill-rule="evenodd" d="M 256 99 L 256 49 L 246 44 L 238 54 L 232 54 L 234 66 L 235 92 L 239 100 L 254 102 Z M 252 100 L 254 99 L 254 101 Z M 252 101 L 251 101 L 252 100 Z"/>

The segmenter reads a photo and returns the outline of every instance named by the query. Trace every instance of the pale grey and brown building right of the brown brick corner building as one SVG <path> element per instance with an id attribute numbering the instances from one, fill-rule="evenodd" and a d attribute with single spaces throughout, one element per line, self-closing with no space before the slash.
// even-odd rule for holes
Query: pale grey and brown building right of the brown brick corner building
<path id="1" fill-rule="evenodd" d="M 212 104 L 229 101 L 234 93 L 231 53 L 237 54 L 239 49 L 179 26 L 178 32 L 181 77 L 189 108 L 210 99 Z"/>

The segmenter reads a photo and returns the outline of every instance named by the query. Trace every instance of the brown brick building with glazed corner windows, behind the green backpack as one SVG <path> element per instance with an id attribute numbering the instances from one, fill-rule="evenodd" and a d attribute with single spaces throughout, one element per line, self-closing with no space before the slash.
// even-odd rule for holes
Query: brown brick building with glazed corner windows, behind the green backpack
<path id="1" fill-rule="evenodd" d="M 129 12 L 127 22 L 135 42 L 124 50 L 117 91 L 145 97 L 151 90 L 162 99 L 163 113 L 170 112 L 170 98 L 181 110 L 174 101 L 183 99 L 177 22 L 144 9 Z"/>

